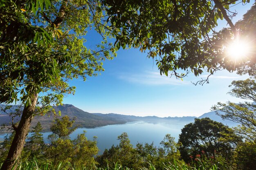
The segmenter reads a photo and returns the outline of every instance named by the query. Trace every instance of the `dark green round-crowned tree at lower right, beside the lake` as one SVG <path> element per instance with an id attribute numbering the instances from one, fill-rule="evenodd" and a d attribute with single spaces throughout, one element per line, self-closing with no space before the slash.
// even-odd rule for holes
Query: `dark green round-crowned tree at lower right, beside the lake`
<path id="1" fill-rule="evenodd" d="M 182 144 L 180 147 L 182 159 L 188 162 L 191 160 L 190 156 L 196 158 L 197 155 L 201 155 L 203 152 L 208 158 L 221 155 L 225 159 L 231 160 L 236 141 L 227 142 L 222 140 L 230 136 L 234 136 L 234 133 L 222 123 L 213 121 L 208 117 L 195 119 L 194 123 L 185 125 L 180 134 L 179 142 Z M 236 140 L 239 141 L 239 138 Z"/>

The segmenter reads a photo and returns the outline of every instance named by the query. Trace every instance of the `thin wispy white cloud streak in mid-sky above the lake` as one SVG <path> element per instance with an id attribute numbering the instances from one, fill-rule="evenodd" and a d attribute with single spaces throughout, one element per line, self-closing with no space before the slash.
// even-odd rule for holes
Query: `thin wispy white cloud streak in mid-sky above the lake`
<path id="1" fill-rule="evenodd" d="M 120 79 L 125 81 L 136 83 L 136 84 L 146 84 L 146 85 L 184 85 L 191 84 L 188 81 L 182 81 L 181 79 L 176 79 L 175 76 L 167 77 L 166 75 L 160 75 L 159 72 L 155 71 L 145 71 L 144 73 L 132 74 L 132 73 L 121 73 L 118 76 Z"/>

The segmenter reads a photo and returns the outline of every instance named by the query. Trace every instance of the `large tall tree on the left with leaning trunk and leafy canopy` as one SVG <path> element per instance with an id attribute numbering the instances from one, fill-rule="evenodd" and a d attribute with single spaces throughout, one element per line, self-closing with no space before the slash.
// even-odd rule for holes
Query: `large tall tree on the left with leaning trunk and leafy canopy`
<path id="1" fill-rule="evenodd" d="M 97 75 L 101 61 L 115 56 L 102 17 L 97 0 L 0 3 L 0 103 L 24 105 L 1 170 L 10 170 L 20 156 L 33 117 L 54 111 L 49 104 L 61 104 L 64 94 L 74 93 L 67 81 Z M 87 49 L 84 35 L 91 28 L 103 40 Z"/>

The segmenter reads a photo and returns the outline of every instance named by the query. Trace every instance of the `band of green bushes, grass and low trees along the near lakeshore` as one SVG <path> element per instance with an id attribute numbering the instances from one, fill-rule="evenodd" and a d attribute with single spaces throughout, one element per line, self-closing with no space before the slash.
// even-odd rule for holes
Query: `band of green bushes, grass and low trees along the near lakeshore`
<path id="1" fill-rule="evenodd" d="M 69 135 L 76 127 L 74 120 L 65 116 L 56 119 L 44 144 L 40 122 L 33 128 L 21 158 L 14 165 L 19 170 L 253 170 L 256 145 L 243 141 L 228 126 L 209 118 L 195 119 L 182 129 L 176 143 L 167 134 L 160 147 L 152 144 L 130 144 L 124 132 L 119 145 L 97 155 L 96 138 L 87 140 L 85 133 L 71 140 Z M 6 137 L 0 150 L 0 162 L 7 156 L 13 139 Z M 243 158 L 243 159 L 241 159 Z M 14 168 L 13 167 L 13 168 Z"/>

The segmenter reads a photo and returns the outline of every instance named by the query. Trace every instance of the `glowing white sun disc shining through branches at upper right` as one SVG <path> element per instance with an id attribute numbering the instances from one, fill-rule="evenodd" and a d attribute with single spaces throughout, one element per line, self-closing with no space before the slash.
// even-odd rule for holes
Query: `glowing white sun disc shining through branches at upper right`
<path id="1" fill-rule="evenodd" d="M 242 60 L 244 57 L 248 56 L 249 51 L 249 43 L 245 41 L 236 40 L 227 46 L 227 55 L 234 60 Z"/>

